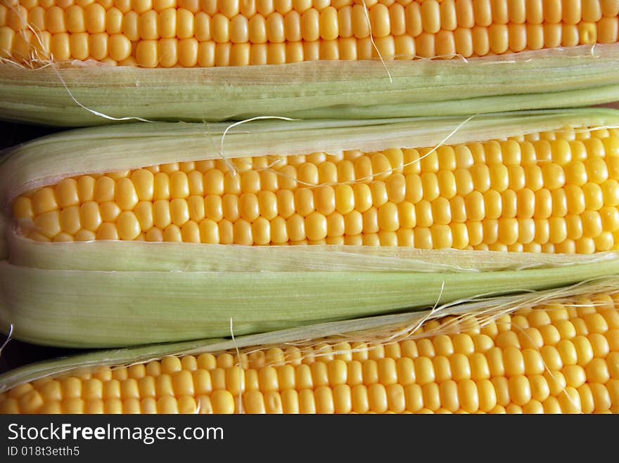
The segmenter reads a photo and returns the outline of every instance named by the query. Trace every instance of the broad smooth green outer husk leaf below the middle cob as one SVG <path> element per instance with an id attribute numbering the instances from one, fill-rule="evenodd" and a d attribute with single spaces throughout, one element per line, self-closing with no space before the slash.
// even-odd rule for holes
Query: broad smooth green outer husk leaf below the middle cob
<path id="1" fill-rule="evenodd" d="M 0 263 L 0 324 L 37 344 L 113 347 L 250 334 L 549 289 L 619 259 L 476 273 L 42 270 Z"/>

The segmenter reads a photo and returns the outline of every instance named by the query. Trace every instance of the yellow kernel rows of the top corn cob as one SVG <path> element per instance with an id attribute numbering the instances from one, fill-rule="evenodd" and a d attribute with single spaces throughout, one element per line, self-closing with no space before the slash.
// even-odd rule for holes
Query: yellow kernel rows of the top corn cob
<path id="1" fill-rule="evenodd" d="M 375 48 L 386 59 L 468 58 L 612 43 L 618 9 L 613 0 L 20 0 L 0 6 L 0 56 L 143 67 L 369 59 Z"/>

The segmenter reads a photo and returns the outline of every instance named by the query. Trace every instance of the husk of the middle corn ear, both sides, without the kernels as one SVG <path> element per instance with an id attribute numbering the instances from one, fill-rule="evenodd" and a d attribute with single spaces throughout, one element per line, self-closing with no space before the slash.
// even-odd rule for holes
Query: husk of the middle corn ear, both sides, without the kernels
<path id="1" fill-rule="evenodd" d="M 2 165 L 15 195 L 63 176 L 195 159 L 364 151 L 618 126 L 615 110 L 377 121 L 144 123 L 79 129 L 19 146 Z M 229 129 L 227 132 L 226 130 Z M 222 141 L 223 134 L 226 133 Z M 224 147 L 224 149 L 222 149 Z M 113 347 L 268 332 L 548 289 L 619 273 L 619 256 L 347 246 L 37 243 L 6 223 L 0 324 L 37 344 Z"/>

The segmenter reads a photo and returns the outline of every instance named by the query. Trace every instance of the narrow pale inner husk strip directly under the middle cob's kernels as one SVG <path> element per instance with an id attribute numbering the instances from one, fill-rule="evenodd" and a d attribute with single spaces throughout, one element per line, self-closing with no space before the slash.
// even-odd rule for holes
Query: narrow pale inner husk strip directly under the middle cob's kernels
<path id="1" fill-rule="evenodd" d="M 490 272 L 554 268 L 619 258 L 617 252 L 529 252 L 414 249 L 350 245 L 241 246 L 188 242 L 98 241 L 46 243 L 8 235 L 8 261 L 55 270 L 184 272 Z"/>

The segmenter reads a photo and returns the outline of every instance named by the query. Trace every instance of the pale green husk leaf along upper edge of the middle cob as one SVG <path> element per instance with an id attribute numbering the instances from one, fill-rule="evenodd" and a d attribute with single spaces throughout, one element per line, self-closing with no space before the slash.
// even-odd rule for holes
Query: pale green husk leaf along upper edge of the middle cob
<path id="1" fill-rule="evenodd" d="M 234 126 L 224 136 L 229 125 L 136 123 L 45 136 L 8 151 L 3 171 L 11 175 L 0 177 L 0 198 L 11 200 L 25 190 L 65 176 L 167 162 L 421 148 L 443 141 L 471 143 L 566 127 L 619 126 L 619 110 L 596 107 L 371 121 L 267 119 Z"/>

